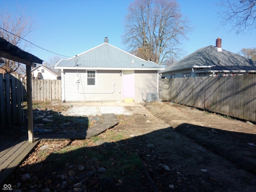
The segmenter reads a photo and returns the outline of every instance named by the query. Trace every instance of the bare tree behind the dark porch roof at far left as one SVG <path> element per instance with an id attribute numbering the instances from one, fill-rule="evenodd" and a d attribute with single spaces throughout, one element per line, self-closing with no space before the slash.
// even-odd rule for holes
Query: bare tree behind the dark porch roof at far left
<path id="1" fill-rule="evenodd" d="M 0 8 L 0 36 L 22 50 L 29 47 L 28 42 L 22 38 L 29 40 L 29 34 L 36 28 L 34 17 L 26 16 L 25 13 L 25 9 L 19 7 L 15 14 Z M 0 68 L 7 73 L 15 72 L 19 66 L 18 62 L 0 58 Z"/>

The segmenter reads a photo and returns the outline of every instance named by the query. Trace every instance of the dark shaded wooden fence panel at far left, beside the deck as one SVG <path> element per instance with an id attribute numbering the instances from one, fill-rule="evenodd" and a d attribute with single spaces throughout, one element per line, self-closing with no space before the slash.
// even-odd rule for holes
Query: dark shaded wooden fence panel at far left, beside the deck
<path id="1" fill-rule="evenodd" d="M 22 124 L 22 82 L 19 74 L 0 74 L 0 124 Z"/>

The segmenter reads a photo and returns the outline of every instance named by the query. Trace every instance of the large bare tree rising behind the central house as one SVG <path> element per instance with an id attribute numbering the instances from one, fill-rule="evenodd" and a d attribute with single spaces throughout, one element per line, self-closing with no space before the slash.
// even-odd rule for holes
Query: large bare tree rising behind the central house
<path id="1" fill-rule="evenodd" d="M 160 65 L 178 58 L 190 31 L 176 0 L 135 0 L 128 7 L 123 43 L 144 60 Z"/>

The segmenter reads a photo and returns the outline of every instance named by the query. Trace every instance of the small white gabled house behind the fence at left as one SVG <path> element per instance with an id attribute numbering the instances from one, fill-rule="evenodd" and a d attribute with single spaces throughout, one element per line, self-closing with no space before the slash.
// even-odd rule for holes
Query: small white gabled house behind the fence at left
<path id="1" fill-rule="evenodd" d="M 41 64 L 38 64 L 35 68 L 31 70 L 31 72 L 32 72 L 32 79 L 50 79 L 50 80 L 61 79 L 61 74 Z M 24 74 L 24 76 L 26 77 L 26 74 Z"/>

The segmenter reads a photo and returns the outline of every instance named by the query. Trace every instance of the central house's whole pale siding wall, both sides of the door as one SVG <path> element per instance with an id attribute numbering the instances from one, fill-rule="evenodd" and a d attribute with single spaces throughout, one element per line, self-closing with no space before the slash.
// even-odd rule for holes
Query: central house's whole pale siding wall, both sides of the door
<path id="1" fill-rule="evenodd" d="M 120 70 L 96 70 L 96 85 L 88 86 L 86 70 L 78 70 L 80 83 L 76 83 L 76 70 L 64 70 L 66 101 L 122 101 L 122 76 Z M 157 93 L 158 71 L 134 71 L 135 92 L 133 100 L 146 100 L 147 93 Z M 113 86 L 113 83 L 115 86 Z M 115 88 L 115 90 L 114 90 Z M 114 93 L 112 93 L 114 90 Z M 96 94 L 97 93 L 97 94 Z"/>

